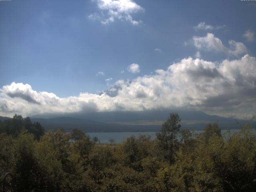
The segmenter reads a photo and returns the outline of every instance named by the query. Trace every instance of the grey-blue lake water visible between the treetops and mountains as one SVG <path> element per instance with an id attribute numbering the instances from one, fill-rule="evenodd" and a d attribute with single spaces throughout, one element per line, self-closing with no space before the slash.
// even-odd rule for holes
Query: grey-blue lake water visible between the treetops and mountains
<path id="1" fill-rule="evenodd" d="M 232 129 L 230 130 L 231 133 L 239 132 L 240 129 Z M 203 131 L 194 131 L 195 134 L 200 134 Z M 227 132 L 227 130 L 222 130 L 222 134 Z M 254 134 L 256 134 L 256 130 L 253 130 Z M 129 138 L 130 136 L 134 135 L 137 138 L 140 135 L 146 135 L 151 136 L 151 139 L 154 140 L 156 138 L 156 132 L 92 132 L 87 133 L 91 138 L 98 137 L 101 143 L 109 143 L 109 139 L 114 139 L 115 143 L 121 143 L 126 138 Z"/>

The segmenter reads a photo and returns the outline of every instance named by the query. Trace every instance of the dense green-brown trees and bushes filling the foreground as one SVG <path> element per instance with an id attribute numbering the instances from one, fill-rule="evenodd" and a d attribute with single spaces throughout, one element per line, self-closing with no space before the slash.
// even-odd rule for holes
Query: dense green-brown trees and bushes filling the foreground
<path id="1" fill-rule="evenodd" d="M 246 124 L 221 135 L 208 124 L 197 136 L 170 114 L 157 138 L 134 136 L 100 144 L 81 130 L 44 134 L 40 124 L 14 116 L 0 122 L 0 184 L 6 172 L 16 191 L 185 192 L 254 191 L 256 138 Z M 72 142 L 70 142 L 72 139 Z M 1 189 L 2 190 L 2 189 Z"/>

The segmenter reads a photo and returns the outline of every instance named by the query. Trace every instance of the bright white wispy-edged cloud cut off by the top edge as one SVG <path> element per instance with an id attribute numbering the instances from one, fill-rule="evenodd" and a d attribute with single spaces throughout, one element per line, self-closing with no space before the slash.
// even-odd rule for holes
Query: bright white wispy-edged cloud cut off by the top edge
<path id="1" fill-rule="evenodd" d="M 92 0 L 92 2 L 96 2 L 98 8 L 106 12 L 106 16 L 102 12 L 101 15 L 97 13 L 90 14 L 88 18 L 100 20 L 104 25 L 112 23 L 116 19 L 128 21 L 133 25 L 138 25 L 141 22 L 134 20 L 132 14 L 144 9 L 132 0 Z"/>

